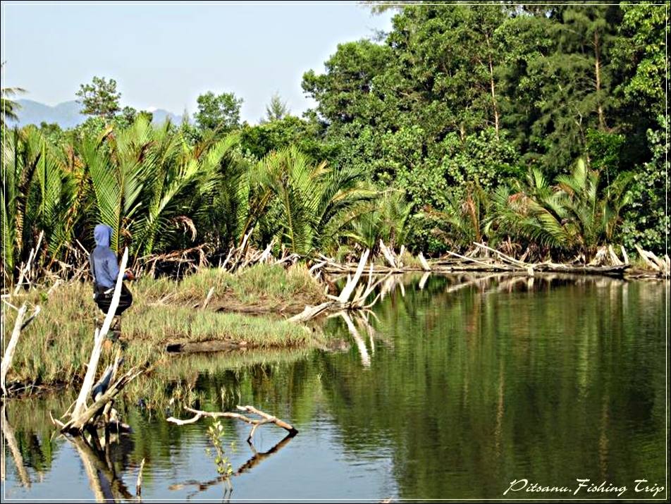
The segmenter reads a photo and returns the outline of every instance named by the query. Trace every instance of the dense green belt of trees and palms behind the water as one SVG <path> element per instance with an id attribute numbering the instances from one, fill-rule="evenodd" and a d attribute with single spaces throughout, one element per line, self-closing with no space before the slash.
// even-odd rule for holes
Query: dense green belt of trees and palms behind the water
<path id="1" fill-rule="evenodd" d="M 31 251 L 33 268 L 72 276 L 98 222 L 152 273 L 175 273 L 167 254 L 216 265 L 243 242 L 308 259 L 380 239 L 433 257 L 474 241 L 584 264 L 609 244 L 663 254 L 665 16 L 403 6 L 390 32 L 304 74 L 315 109 L 299 118 L 273 97 L 258 125 L 240 123 L 232 93 L 155 125 L 97 78 L 78 92 L 90 119 L 76 128 L 4 118 L 4 281 Z"/>

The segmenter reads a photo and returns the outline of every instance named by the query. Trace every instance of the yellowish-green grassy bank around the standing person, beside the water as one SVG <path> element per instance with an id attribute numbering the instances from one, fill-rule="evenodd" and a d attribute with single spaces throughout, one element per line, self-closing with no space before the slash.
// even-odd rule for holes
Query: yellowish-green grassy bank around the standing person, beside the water
<path id="1" fill-rule="evenodd" d="M 321 286 L 302 266 L 258 265 L 232 275 L 205 269 L 176 282 L 142 278 L 130 285 L 133 307 L 123 315 L 126 366 L 152 366 L 166 357 L 171 342 L 219 342 L 231 348 L 304 348 L 321 343 L 321 332 L 292 324 L 281 314 L 300 311 L 323 298 Z M 214 288 L 207 308 L 207 293 Z M 56 384 L 85 374 L 96 321 L 104 315 L 92 300 L 90 283 L 61 285 L 50 295 L 31 290 L 11 297 L 42 312 L 23 331 L 8 381 Z M 263 316 L 244 314 L 265 312 Z M 16 311 L 3 306 L 3 341 L 8 341 Z M 6 343 L 4 343 L 6 344 Z M 107 349 L 101 362 L 111 357 Z"/>

